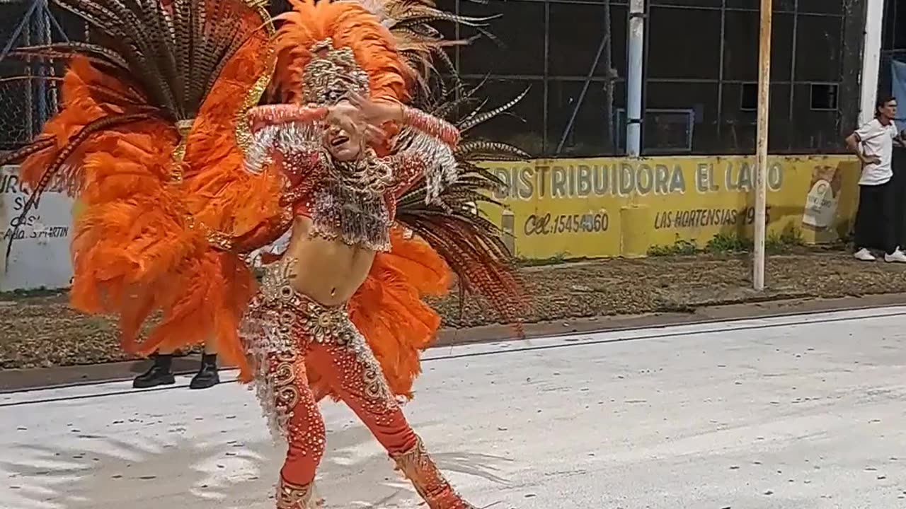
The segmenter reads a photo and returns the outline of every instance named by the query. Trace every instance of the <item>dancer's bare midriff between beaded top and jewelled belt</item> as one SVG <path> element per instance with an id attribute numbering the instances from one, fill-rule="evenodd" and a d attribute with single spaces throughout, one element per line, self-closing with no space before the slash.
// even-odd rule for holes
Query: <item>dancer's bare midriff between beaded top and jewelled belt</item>
<path id="1" fill-rule="evenodd" d="M 368 277 L 375 252 L 312 232 L 312 220 L 296 216 L 289 247 L 278 263 L 291 264 L 285 268 L 296 292 L 326 306 L 346 303 Z"/>

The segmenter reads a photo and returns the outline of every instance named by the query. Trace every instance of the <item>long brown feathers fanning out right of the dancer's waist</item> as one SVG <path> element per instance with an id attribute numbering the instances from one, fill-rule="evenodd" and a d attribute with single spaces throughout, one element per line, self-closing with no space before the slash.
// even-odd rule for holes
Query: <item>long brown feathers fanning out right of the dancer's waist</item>
<path id="1" fill-rule="evenodd" d="M 480 85 L 479 85 L 480 86 Z M 513 255 L 503 241 L 504 232 L 483 216 L 482 205 L 502 206 L 494 198 L 504 183 L 479 162 L 484 160 L 524 160 L 529 155 L 506 143 L 469 139 L 467 131 L 512 108 L 525 97 L 498 108 L 482 111 L 484 101 L 475 93 L 458 91 L 452 101 L 426 101 L 422 109 L 445 118 L 458 127 L 463 138 L 456 150 L 459 178 L 446 187 L 438 201 L 426 203 L 423 182 L 400 197 L 397 221 L 410 228 L 431 245 L 458 277 L 460 303 L 466 294 L 477 294 L 490 303 L 500 319 L 517 324 L 527 306 L 523 284 L 513 265 Z M 478 106 L 474 104 L 478 102 Z M 465 114 L 459 113 L 463 110 Z"/>

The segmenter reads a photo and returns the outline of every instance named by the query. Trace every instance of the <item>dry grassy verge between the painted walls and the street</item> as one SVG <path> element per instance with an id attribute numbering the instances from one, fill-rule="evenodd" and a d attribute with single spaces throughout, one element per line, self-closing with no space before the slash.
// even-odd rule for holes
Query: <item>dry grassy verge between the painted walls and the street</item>
<path id="1" fill-rule="evenodd" d="M 692 311 L 703 305 L 801 297 L 906 293 L 906 266 L 865 264 L 843 253 L 774 255 L 765 293 L 750 290 L 747 256 L 602 260 L 523 270 L 534 310 L 526 322 L 595 315 Z M 456 293 L 436 303 L 449 327 L 496 322 Z M 73 312 L 63 293 L 0 296 L 0 370 L 127 360 L 112 322 Z"/>

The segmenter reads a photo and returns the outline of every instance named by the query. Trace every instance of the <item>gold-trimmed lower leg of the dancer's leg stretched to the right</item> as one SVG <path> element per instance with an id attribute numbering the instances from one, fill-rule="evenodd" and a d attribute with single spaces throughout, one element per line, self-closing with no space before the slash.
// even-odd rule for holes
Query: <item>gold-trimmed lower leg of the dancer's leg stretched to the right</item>
<path id="1" fill-rule="evenodd" d="M 475 509 L 453 490 L 429 456 L 421 438 L 417 437 L 417 440 L 415 447 L 390 457 L 396 461 L 397 469 L 412 482 L 421 498 L 431 509 Z"/>

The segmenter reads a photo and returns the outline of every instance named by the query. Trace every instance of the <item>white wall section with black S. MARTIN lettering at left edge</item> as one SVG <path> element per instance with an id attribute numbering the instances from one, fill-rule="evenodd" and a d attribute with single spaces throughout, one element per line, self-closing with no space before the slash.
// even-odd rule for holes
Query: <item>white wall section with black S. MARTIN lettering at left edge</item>
<path id="1" fill-rule="evenodd" d="M 25 217 L 7 263 L 6 246 L 22 213 L 28 191 L 19 184 L 16 168 L 0 168 L 0 292 L 58 289 L 69 286 L 72 264 L 69 235 L 72 232 L 72 198 L 55 191 L 43 194 L 37 207 Z"/>

